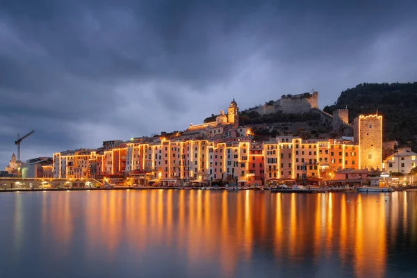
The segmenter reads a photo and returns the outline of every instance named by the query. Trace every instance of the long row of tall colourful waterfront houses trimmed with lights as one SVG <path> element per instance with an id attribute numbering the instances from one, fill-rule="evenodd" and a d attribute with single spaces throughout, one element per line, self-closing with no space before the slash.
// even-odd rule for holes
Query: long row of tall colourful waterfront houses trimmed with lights
<path id="1" fill-rule="evenodd" d="M 255 142 L 158 139 L 126 142 L 103 152 L 54 154 L 54 177 L 126 179 L 142 173 L 148 181 L 224 181 L 239 185 L 271 181 L 332 179 L 359 169 L 359 145 L 347 140 L 302 140 L 291 136 Z M 128 155 L 129 154 L 129 155 Z M 150 178 L 149 178 L 150 177 Z"/>

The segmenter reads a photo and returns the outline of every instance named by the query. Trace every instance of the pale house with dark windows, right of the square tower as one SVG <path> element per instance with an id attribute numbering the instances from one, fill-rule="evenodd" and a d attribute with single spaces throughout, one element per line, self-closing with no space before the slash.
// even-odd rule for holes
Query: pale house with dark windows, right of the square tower
<path id="1" fill-rule="evenodd" d="M 409 174 L 411 169 L 416 167 L 416 163 L 417 154 L 409 149 L 402 149 L 400 152 L 387 157 L 383 163 L 383 168 L 389 173 Z"/>

